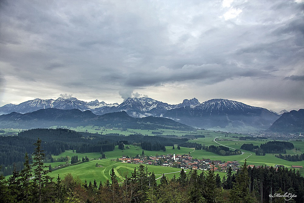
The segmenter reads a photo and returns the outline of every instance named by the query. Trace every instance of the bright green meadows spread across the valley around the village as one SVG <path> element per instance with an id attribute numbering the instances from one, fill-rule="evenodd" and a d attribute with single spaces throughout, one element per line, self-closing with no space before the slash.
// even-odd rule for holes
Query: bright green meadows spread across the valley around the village
<path id="1" fill-rule="evenodd" d="M 56 128 L 57 126 L 54 126 Z M 101 130 L 95 130 L 95 129 L 101 129 Z M 133 133 L 141 133 L 143 135 L 153 135 L 151 132 L 152 130 L 140 130 L 140 129 L 126 129 L 126 131 L 122 131 L 119 129 L 105 129 L 100 128 L 98 126 L 80 126 L 77 128 L 70 128 L 75 131 L 87 131 L 92 133 L 98 133 L 98 134 L 107 134 L 107 133 L 119 133 L 123 135 L 129 135 Z M 192 131 L 192 132 L 186 132 L 186 131 L 174 131 L 169 129 L 158 129 L 155 131 L 161 131 L 163 135 L 205 135 L 205 138 L 197 138 L 194 140 L 189 140 L 188 142 L 197 142 L 205 146 L 209 145 L 219 145 L 216 142 L 214 142 L 214 138 L 219 137 L 218 139 L 222 139 L 225 141 L 217 141 L 220 144 L 226 145 L 228 147 L 234 148 L 234 149 L 240 149 L 240 147 L 243 144 L 249 144 L 252 143 L 254 145 L 261 145 L 265 142 L 271 141 L 271 140 L 259 140 L 259 141 L 251 141 L 251 140 L 238 140 L 237 138 L 231 138 L 231 137 L 224 137 L 227 135 L 226 133 L 219 133 L 215 131 L 205 131 L 205 130 L 198 130 L 198 131 Z M 228 134 L 228 136 L 244 136 L 244 135 L 238 135 L 238 134 Z M 304 150 L 304 142 L 296 142 L 291 141 L 295 148 L 297 150 L 287 150 L 288 154 L 301 154 L 301 150 Z M 59 158 L 61 156 L 75 156 L 78 155 L 78 159 L 81 159 L 82 157 L 88 156 L 89 159 L 96 159 L 96 160 L 90 160 L 89 162 L 81 163 L 75 166 L 68 166 L 63 169 L 55 170 L 51 173 L 52 177 L 57 177 L 58 174 L 60 174 L 61 177 L 64 177 L 65 174 L 71 173 L 73 176 L 78 176 L 81 180 L 87 180 L 87 181 L 93 181 L 96 179 L 96 181 L 102 181 L 105 182 L 107 179 L 110 178 L 110 172 L 111 169 L 114 168 L 115 173 L 117 177 L 119 177 L 119 181 L 123 180 L 123 176 L 126 174 L 131 174 L 131 172 L 134 171 L 134 167 L 137 167 L 136 164 L 130 164 L 130 163 L 121 163 L 116 162 L 116 158 L 122 157 L 122 156 L 136 156 L 137 154 L 142 154 L 142 149 L 140 146 L 134 146 L 134 145 L 126 145 L 129 149 L 118 149 L 118 146 L 115 147 L 114 151 L 110 152 L 104 152 L 106 159 L 100 159 L 101 154 L 98 152 L 93 153 L 76 153 L 72 150 L 66 150 L 65 152 L 61 153 L 59 156 L 53 156 L 53 158 Z M 125 146 L 125 147 L 126 147 Z M 211 160 L 222 160 L 222 161 L 239 161 L 240 164 L 244 163 L 244 159 L 247 159 L 248 164 L 252 165 L 268 165 L 268 166 L 275 166 L 276 164 L 284 165 L 287 167 L 291 167 L 292 165 L 299 165 L 304 166 L 304 161 L 300 162 L 290 162 L 284 159 L 279 159 L 275 157 L 275 154 L 266 154 L 266 156 L 256 156 L 254 152 L 242 150 L 244 154 L 241 155 L 234 155 L 234 156 L 219 156 L 218 154 L 207 152 L 205 150 L 194 150 L 192 148 L 185 148 L 181 147 L 180 150 L 177 149 L 177 145 L 175 145 L 175 149 L 172 149 L 172 146 L 166 146 L 166 151 L 163 152 L 163 150 L 160 151 L 146 151 L 144 150 L 144 154 L 146 156 L 155 156 L 155 155 L 161 155 L 161 154 L 188 154 L 191 153 L 191 155 L 194 158 L 203 159 L 203 158 L 209 158 Z M 59 164 L 64 164 L 65 162 L 54 162 L 54 163 L 46 163 L 48 166 L 51 164 L 52 167 L 58 166 Z M 70 160 L 68 161 L 70 163 Z M 97 167 L 96 163 L 100 165 L 101 167 Z M 178 177 L 179 173 L 172 173 L 172 172 L 178 172 L 180 169 L 178 168 L 172 168 L 172 167 L 165 167 L 165 166 L 150 166 L 147 165 L 148 170 L 150 172 L 154 171 L 156 174 L 156 178 L 161 177 L 161 174 L 163 173 L 169 173 L 166 174 L 166 177 L 172 178 L 175 174 L 176 177 Z M 186 170 L 187 171 L 187 170 Z M 198 171 L 198 173 L 201 173 L 202 171 Z M 301 171 L 302 172 L 302 171 Z M 216 172 L 219 173 L 220 177 L 223 177 L 225 173 Z M 304 175 L 304 173 L 302 173 Z M 159 179 L 158 179 L 159 181 Z"/>

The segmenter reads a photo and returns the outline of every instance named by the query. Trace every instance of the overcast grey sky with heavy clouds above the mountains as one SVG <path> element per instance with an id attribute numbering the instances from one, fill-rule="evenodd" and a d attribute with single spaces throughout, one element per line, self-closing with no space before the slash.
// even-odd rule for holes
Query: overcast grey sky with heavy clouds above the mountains
<path id="1" fill-rule="evenodd" d="M 304 108 L 304 1 L 0 1 L 0 106 L 73 96 Z"/>

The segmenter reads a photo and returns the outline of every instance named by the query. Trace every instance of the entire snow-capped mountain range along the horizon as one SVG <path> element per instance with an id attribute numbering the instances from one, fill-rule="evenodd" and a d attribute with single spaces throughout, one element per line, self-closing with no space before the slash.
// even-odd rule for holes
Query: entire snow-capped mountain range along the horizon
<path id="1" fill-rule="evenodd" d="M 148 97 L 127 98 L 121 104 L 107 104 L 98 100 L 84 102 L 71 97 L 57 100 L 35 99 L 18 105 L 7 104 L 0 107 L 0 114 L 12 112 L 24 114 L 47 108 L 90 110 L 96 115 L 125 111 L 128 115 L 137 118 L 167 117 L 195 128 L 235 132 L 268 129 L 281 113 L 226 99 L 212 99 L 200 103 L 193 98 L 172 105 Z"/>

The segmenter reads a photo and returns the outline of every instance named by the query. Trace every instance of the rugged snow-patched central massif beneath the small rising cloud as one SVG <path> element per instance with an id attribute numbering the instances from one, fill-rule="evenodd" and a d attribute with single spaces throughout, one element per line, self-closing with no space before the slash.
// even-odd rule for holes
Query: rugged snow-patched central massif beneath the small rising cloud
<path id="1" fill-rule="evenodd" d="M 187 107 L 199 104 L 196 98 L 191 100 L 185 99 L 183 103 L 171 105 L 168 103 L 163 103 L 148 97 L 141 98 L 127 98 L 123 103 L 119 104 L 117 107 L 105 107 L 97 114 L 105 114 L 116 111 L 126 111 L 129 115 L 134 117 L 143 117 L 149 115 L 160 116 L 166 111 L 179 108 Z"/>

